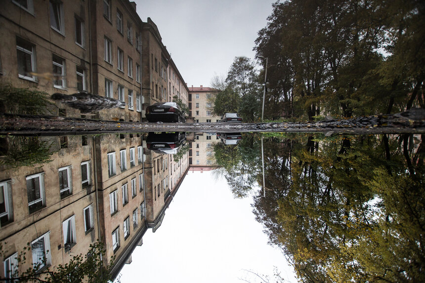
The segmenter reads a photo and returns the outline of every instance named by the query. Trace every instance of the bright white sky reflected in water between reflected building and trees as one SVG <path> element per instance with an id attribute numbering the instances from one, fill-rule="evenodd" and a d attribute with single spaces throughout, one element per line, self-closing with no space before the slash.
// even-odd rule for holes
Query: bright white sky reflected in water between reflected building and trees
<path id="1" fill-rule="evenodd" d="M 267 245 L 262 225 L 252 213 L 252 197 L 233 199 L 225 180 L 213 172 L 189 172 L 161 227 L 148 230 L 136 247 L 121 282 L 259 282 L 273 266 L 286 282 L 295 283 L 293 269 L 281 252 Z"/>

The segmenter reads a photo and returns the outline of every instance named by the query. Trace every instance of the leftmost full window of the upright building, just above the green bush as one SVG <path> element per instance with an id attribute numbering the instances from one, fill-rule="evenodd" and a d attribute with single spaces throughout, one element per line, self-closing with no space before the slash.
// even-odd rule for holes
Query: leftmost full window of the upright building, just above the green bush
<path id="1" fill-rule="evenodd" d="M 19 78 L 36 81 L 36 76 L 31 74 L 36 71 L 36 47 L 28 41 L 16 38 L 16 53 Z"/>

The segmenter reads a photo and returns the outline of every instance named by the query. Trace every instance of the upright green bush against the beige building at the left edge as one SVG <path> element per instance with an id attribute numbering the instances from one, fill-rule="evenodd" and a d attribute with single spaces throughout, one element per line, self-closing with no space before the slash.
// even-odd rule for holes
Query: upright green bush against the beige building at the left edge
<path id="1" fill-rule="evenodd" d="M 11 84 L 0 84 L 0 109 L 11 114 L 42 115 L 52 114 L 53 105 L 48 94 L 30 88 L 17 88 Z"/>

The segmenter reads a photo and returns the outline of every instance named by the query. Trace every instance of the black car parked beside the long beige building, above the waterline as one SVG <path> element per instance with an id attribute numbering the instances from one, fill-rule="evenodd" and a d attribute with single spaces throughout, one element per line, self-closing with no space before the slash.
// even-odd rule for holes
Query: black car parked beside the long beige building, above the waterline
<path id="1" fill-rule="evenodd" d="M 146 108 L 148 122 L 185 122 L 180 107 L 175 102 L 154 103 Z"/>

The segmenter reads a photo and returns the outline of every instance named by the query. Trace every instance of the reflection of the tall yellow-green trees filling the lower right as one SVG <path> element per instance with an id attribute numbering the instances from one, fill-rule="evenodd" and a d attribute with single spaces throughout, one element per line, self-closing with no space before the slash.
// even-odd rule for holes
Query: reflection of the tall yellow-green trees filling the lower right
<path id="1" fill-rule="evenodd" d="M 403 135 L 299 138 L 268 157 L 256 219 L 303 281 L 425 280 L 424 139 L 410 138 L 407 152 Z"/>

